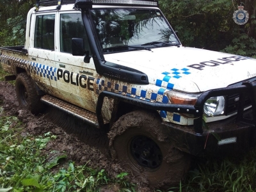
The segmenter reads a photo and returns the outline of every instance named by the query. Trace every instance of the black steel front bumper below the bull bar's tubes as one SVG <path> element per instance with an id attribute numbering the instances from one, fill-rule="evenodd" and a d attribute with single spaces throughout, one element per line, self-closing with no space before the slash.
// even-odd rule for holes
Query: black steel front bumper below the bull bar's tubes
<path id="1" fill-rule="evenodd" d="M 252 109 L 245 112 L 252 117 Z M 236 117 L 207 124 L 208 129 L 196 133 L 193 126 L 163 123 L 169 138 L 180 150 L 194 156 L 224 156 L 238 154 L 255 147 L 256 126 Z"/>

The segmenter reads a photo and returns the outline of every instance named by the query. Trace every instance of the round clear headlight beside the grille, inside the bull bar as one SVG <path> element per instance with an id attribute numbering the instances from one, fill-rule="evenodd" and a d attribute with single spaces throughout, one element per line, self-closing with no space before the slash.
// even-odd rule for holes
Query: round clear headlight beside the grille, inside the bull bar
<path id="1" fill-rule="evenodd" d="M 224 113 L 225 98 L 223 96 L 211 97 L 204 104 L 204 113 L 207 116 L 216 116 Z"/>

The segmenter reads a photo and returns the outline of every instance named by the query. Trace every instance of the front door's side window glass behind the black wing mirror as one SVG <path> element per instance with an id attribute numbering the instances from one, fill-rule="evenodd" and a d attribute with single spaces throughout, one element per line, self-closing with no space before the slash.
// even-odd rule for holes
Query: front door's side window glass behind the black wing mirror
<path id="1" fill-rule="evenodd" d="M 84 50 L 90 52 L 88 36 L 84 28 L 81 13 L 63 13 L 60 16 L 60 51 L 72 52 L 72 38 L 83 38 Z"/>

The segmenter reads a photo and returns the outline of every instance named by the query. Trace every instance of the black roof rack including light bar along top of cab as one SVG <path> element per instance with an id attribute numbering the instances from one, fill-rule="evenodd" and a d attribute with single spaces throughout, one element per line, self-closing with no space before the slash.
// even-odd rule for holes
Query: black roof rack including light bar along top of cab
<path id="1" fill-rule="evenodd" d="M 36 0 L 37 9 L 57 5 L 56 9 L 60 10 L 62 4 L 74 4 L 76 8 L 92 8 L 92 4 L 159 6 L 157 0 Z"/>

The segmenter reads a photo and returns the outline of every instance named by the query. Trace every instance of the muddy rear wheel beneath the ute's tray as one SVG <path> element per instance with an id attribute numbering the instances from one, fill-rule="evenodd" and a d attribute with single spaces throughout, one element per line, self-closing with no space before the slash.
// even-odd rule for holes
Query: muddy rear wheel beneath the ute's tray
<path id="1" fill-rule="evenodd" d="M 43 104 L 40 102 L 40 96 L 36 93 L 36 88 L 28 74 L 20 73 L 17 75 L 15 91 L 21 108 L 27 109 L 33 114 L 42 111 Z"/>

